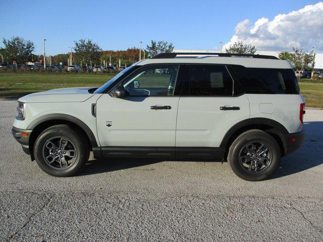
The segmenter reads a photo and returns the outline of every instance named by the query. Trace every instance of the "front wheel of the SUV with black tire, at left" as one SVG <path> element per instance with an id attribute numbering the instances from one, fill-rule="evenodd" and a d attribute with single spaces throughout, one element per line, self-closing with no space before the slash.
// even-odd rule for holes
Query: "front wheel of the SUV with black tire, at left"
<path id="1" fill-rule="evenodd" d="M 60 146 L 61 143 L 63 144 Z M 63 146 L 65 148 L 60 149 Z M 74 153 L 73 150 L 75 150 Z M 61 152 L 62 156 L 55 152 Z M 34 145 L 34 155 L 38 166 L 52 176 L 72 176 L 85 166 L 89 154 L 90 148 L 85 137 L 68 125 L 49 127 L 38 136 Z M 54 156 L 55 159 L 53 159 Z"/>

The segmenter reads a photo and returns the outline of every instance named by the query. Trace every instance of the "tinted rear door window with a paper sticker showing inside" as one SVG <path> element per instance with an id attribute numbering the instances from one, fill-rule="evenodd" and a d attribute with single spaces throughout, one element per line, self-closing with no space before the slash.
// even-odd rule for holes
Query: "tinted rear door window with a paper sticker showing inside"
<path id="1" fill-rule="evenodd" d="M 191 66 L 192 96 L 232 96 L 232 85 L 232 78 L 225 66 Z"/>

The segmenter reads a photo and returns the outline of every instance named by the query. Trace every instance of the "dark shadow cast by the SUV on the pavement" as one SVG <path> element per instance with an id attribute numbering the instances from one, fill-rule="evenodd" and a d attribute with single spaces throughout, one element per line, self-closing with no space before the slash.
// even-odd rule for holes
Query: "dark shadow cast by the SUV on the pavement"
<path id="1" fill-rule="evenodd" d="M 323 158 L 321 154 L 321 150 L 323 147 L 323 122 L 306 122 L 304 123 L 303 130 L 306 132 L 306 138 L 303 146 L 296 152 L 283 157 L 281 159 L 279 168 L 269 179 L 288 176 L 323 164 Z M 83 176 L 105 173 L 116 170 L 145 166 L 164 161 L 222 162 L 222 160 L 215 159 L 192 160 L 174 158 L 102 157 L 98 159 L 89 160 L 85 168 L 77 175 Z"/>

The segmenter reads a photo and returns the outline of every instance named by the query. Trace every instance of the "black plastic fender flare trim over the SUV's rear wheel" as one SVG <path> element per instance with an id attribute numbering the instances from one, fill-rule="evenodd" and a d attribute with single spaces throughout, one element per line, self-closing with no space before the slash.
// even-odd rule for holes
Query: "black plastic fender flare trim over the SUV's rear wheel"
<path id="1" fill-rule="evenodd" d="M 285 140 L 283 139 L 284 134 L 289 134 L 288 130 L 279 122 L 270 119 L 270 118 L 265 118 L 265 117 L 253 117 L 253 118 L 248 118 L 240 121 L 239 123 L 235 124 L 230 128 L 230 130 L 227 131 L 225 136 L 222 139 L 222 142 L 220 144 L 220 148 L 227 148 L 229 141 L 231 137 L 240 129 L 247 127 L 249 125 L 267 125 L 273 127 L 272 129 L 268 130 L 270 133 L 274 133 L 278 135 L 282 142 L 284 143 Z"/>

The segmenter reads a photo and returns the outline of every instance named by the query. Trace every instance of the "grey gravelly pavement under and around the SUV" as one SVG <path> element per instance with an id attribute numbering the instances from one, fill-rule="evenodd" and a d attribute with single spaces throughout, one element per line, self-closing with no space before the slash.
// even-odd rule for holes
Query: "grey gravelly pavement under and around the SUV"
<path id="1" fill-rule="evenodd" d="M 0 101 L 0 241 L 323 240 L 323 110 L 306 110 L 304 146 L 253 183 L 228 163 L 131 158 L 52 177 L 12 137 L 15 115 Z"/>

